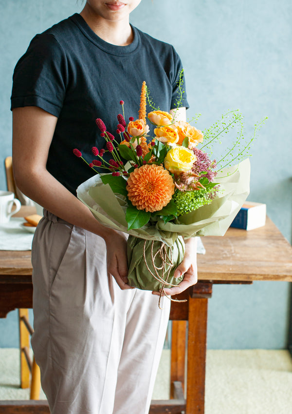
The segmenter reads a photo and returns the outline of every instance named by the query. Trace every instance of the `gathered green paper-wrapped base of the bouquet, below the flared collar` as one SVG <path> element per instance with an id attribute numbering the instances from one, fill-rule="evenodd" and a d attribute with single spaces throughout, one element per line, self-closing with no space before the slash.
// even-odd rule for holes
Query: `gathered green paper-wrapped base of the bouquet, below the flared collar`
<path id="1" fill-rule="evenodd" d="M 183 276 L 174 277 L 173 274 L 183 260 L 184 247 L 183 237 L 181 236 L 177 237 L 171 247 L 161 241 L 144 240 L 142 238 L 129 236 L 129 285 L 142 290 L 159 291 L 163 287 L 168 288 L 180 283 L 183 280 Z M 153 260 L 155 265 L 154 269 L 152 258 L 161 248 L 166 263 L 164 263 L 161 255 L 157 254 Z M 169 265 L 170 262 L 172 262 L 172 265 Z M 157 280 L 156 277 L 162 277 L 165 284 Z"/>

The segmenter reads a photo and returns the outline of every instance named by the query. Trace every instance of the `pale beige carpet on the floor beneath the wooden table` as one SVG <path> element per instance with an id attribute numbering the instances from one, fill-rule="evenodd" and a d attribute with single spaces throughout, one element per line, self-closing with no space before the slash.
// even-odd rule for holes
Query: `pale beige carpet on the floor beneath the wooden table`
<path id="1" fill-rule="evenodd" d="M 170 351 L 164 350 L 153 399 L 167 399 Z M 0 399 L 28 399 L 18 386 L 18 350 L 0 349 Z M 44 395 L 41 395 L 44 399 Z M 207 351 L 205 414 L 292 414 L 288 351 Z"/>

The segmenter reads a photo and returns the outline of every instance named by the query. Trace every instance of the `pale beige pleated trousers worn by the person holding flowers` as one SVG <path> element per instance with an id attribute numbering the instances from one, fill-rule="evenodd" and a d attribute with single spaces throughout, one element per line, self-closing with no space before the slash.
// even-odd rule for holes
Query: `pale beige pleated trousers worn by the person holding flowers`
<path id="1" fill-rule="evenodd" d="M 45 211 L 33 241 L 32 346 L 51 414 L 146 414 L 170 301 L 122 291 L 101 237 Z"/>

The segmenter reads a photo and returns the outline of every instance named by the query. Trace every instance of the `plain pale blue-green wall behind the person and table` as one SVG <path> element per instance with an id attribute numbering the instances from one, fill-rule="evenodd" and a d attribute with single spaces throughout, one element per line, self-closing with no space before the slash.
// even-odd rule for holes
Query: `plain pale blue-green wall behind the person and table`
<path id="1" fill-rule="evenodd" d="M 74 12 L 75 0 L 0 1 L 1 162 L 11 154 L 11 77 L 30 39 Z M 253 148 L 252 201 L 291 242 L 292 3 L 290 0 L 142 0 L 132 23 L 172 43 L 186 74 L 190 109 L 204 129 L 228 109 L 245 115 L 247 134 L 268 116 Z M 3 169 L 0 188 L 5 188 Z M 290 285 L 214 286 L 209 301 L 211 349 L 287 346 Z M 16 312 L 0 320 L 0 346 L 17 346 Z M 4 329 L 7 330 L 5 334 Z"/>

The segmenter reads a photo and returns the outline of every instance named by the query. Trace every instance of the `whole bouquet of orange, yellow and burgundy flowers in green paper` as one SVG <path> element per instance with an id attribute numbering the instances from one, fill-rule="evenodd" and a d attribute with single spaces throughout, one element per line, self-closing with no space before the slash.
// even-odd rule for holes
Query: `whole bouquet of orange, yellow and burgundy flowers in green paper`
<path id="1" fill-rule="evenodd" d="M 182 76 L 180 99 L 181 81 Z M 146 101 L 151 109 L 147 120 Z M 223 115 L 203 132 L 188 122 L 175 121 L 176 113 L 172 116 L 155 108 L 145 82 L 139 119 L 130 117 L 126 122 L 124 102 L 120 104 L 123 114 L 117 115 L 116 136 L 107 131 L 102 119 L 96 119 L 105 148 L 92 147 L 91 162 L 73 150 L 93 170 L 105 171 L 82 183 L 77 197 L 103 225 L 128 233 L 129 285 L 163 294 L 164 287 L 175 286 L 183 278 L 173 274 L 183 260 L 184 239 L 223 236 L 248 196 L 250 164 L 242 159 L 255 134 L 240 148 L 243 129 L 238 111 Z M 147 135 L 147 122 L 155 126 L 154 137 Z M 220 163 L 211 160 L 203 149 L 235 124 L 240 128 L 233 146 Z M 105 158 L 106 152 L 110 159 Z M 236 165 L 230 166 L 233 161 Z"/>

